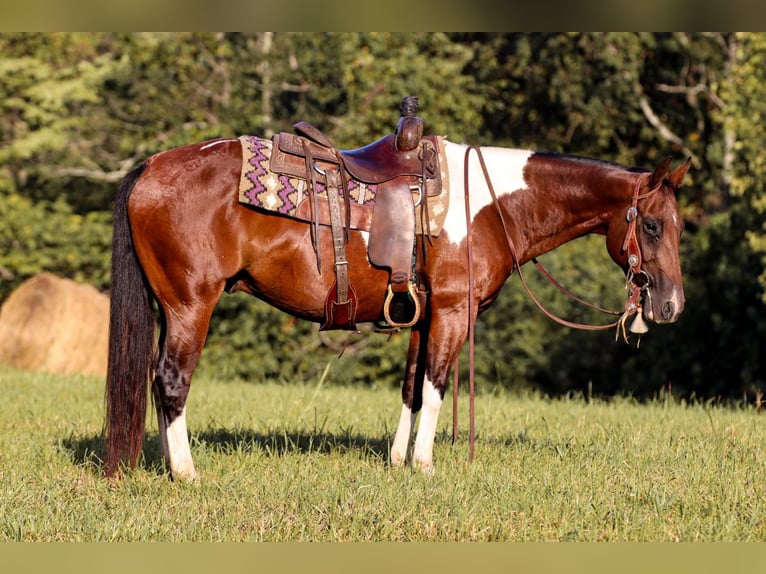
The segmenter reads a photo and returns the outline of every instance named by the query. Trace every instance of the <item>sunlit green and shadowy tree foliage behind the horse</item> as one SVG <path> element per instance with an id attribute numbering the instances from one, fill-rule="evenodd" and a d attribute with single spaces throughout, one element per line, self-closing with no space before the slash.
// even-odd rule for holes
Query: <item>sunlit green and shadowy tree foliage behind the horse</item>
<path id="1" fill-rule="evenodd" d="M 298 120 L 356 147 L 391 132 L 401 98 L 417 95 L 426 130 L 453 141 L 646 168 L 693 160 L 679 323 L 636 349 L 552 323 L 511 277 L 477 326 L 480 386 L 741 396 L 764 384 L 765 54 L 763 34 L 730 33 L 0 34 L 0 301 L 42 270 L 106 290 L 114 192 L 152 153 Z M 542 260 L 571 290 L 621 306 L 603 238 Z M 524 272 L 552 311 L 604 320 Z M 201 370 L 397 384 L 405 353 L 406 333 L 320 335 L 236 295 L 214 315 Z"/>

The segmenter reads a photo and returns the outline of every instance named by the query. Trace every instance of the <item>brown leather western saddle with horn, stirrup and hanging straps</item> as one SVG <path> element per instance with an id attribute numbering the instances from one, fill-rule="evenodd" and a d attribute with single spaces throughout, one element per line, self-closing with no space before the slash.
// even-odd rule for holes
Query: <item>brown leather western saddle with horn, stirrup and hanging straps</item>
<path id="1" fill-rule="evenodd" d="M 423 136 L 424 123 L 416 115 L 417 108 L 417 97 L 404 98 L 396 131 L 353 150 L 339 150 L 308 122 L 295 124 L 295 134 L 274 136 L 271 171 L 306 182 L 306 219 L 311 222 L 320 270 L 319 224 L 325 219 L 322 214 L 329 212 L 335 281 L 327 294 L 322 330 L 356 329 L 357 295 L 349 281 L 345 249 L 352 223 L 369 231 L 370 262 L 389 269 L 383 307 L 388 326 L 411 327 L 424 315 L 426 293 L 415 273 L 415 208 L 423 204 L 427 210 L 428 195 L 441 191 L 441 172 L 436 138 Z M 350 185 L 360 183 L 375 188 L 372 215 L 361 224 L 360 217 L 365 217 L 359 215 L 348 193 Z M 325 205 L 318 198 L 321 188 L 327 195 Z M 418 193 L 417 201 L 413 192 Z"/>

